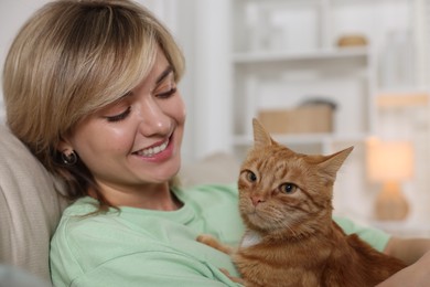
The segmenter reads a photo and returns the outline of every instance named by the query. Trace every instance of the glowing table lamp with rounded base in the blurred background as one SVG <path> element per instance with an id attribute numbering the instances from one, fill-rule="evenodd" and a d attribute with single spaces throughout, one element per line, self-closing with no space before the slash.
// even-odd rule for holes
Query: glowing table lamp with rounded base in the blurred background
<path id="1" fill-rule="evenodd" d="M 381 183 L 376 198 L 376 219 L 381 221 L 405 220 L 409 204 L 401 183 L 410 180 L 413 173 L 413 149 L 409 141 L 367 142 L 367 174 L 372 181 Z"/>

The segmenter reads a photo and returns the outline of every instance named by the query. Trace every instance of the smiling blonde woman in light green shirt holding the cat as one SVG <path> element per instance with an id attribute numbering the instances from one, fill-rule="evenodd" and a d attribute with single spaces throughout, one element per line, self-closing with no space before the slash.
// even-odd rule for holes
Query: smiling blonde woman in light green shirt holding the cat
<path id="1" fill-rule="evenodd" d="M 219 270 L 238 275 L 228 256 L 195 242 L 201 233 L 238 242 L 236 187 L 174 184 L 183 70 L 171 34 L 126 0 L 52 2 L 12 43 L 8 125 L 73 201 L 51 243 L 55 286 L 236 285 Z M 428 248 L 338 222 L 410 263 Z"/>

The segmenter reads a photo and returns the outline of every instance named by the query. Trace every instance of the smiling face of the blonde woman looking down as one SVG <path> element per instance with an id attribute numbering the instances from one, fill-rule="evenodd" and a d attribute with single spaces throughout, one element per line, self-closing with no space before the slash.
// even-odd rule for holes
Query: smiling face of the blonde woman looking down
<path id="1" fill-rule="evenodd" d="M 172 67 L 159 50 L 138 86 L 78 124 L 65 142 L 101 188 L 163 183 L 179 171 L 184 121 Z"/>

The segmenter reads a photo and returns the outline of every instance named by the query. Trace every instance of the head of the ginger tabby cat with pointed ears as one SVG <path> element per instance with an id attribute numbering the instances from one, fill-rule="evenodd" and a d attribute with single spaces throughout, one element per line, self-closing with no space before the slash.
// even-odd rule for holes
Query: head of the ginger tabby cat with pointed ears
<path id="1" fill-rule="evenodd" d="M 331 156 L 302 155 L 275 141 L 254 119 L 254 147 L 241 164 L 239 210 L 260 232 L 311 233 L 331 220 L 333 184 L 353 147 Z"/>

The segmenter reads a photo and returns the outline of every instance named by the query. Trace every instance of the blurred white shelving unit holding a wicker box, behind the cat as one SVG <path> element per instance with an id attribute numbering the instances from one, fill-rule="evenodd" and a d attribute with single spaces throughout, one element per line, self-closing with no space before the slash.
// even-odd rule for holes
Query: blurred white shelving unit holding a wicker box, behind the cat
<path id="1" fill-rule="evenodd" d="M 236 152 L 249 145 L 251 118 L 259 109 L 291 108 L 312 98 L 336 104 L 333 132 L 275 135 L 277 139 L 304 150 L 311 147 L 308 151 L 330 152 L 332 142 L 363 141 L 375 130 L 376 51 L 373 45 L 336 46 L 342 34 L 336 23 L 338 2 L 233 1 Z"/>

